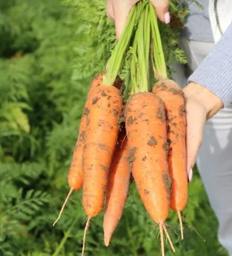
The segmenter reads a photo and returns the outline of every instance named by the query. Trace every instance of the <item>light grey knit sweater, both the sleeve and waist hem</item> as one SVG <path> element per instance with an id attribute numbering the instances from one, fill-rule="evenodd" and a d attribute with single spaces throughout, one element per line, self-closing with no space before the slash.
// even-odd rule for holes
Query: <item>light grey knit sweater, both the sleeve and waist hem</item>
<path id="1" fill-rule="evenodd" d="M 191 15 L 187 19 L 182 36 L 189 40 L 214 42 L 208 17 L 208 0 L 198 0 L 205 10 L 196 4 L 189 5 Z M 191 74 L 188 83 L 198 83 L 219 97 L 224 107 L 232 100 L 232 22 L 214 45 L 210 54 Z"/>

